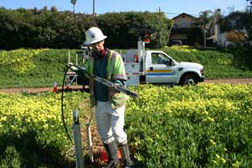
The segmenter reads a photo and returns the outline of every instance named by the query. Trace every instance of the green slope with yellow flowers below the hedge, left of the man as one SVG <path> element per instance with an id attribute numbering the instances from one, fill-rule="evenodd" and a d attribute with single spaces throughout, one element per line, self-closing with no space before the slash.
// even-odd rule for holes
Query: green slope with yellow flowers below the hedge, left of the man
<path id="1" fill-rule="evenodd" d="M 75 51 L 18 49 L 0 51 L 1 87 L 52 87 L 62 83 L 68 53 Z"/>

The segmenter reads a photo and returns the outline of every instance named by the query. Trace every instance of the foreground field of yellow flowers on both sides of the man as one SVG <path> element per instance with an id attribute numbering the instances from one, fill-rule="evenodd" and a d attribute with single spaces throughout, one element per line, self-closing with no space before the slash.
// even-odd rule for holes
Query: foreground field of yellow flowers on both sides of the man
<path id="1" fill-rule="evenodd" d="M 125 130 L 136 167 L 252 167 L 252 85 L 130 87 Z M 65 94 L 71 111 L 88 94 Z M 85 113 L 85 112 L 83 112 Z M 0 167 L 71 167 L 60 95 L 0 93 Z M 18 166 L 17 166 L 18 167 Z"/>

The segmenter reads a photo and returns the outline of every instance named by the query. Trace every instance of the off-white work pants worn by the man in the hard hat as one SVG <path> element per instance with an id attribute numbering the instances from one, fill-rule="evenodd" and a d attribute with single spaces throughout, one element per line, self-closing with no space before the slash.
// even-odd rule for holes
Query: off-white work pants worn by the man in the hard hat
<path id="1" fill-rule="evenodd" d="M 102 141 L 109 144 L 116 140 L 118 144 L 127 143 L 127 135 L 123 130 L 125 105 L 115 110 L 110 102 L 98 101 L 95 108 L 95 119 Z"/>

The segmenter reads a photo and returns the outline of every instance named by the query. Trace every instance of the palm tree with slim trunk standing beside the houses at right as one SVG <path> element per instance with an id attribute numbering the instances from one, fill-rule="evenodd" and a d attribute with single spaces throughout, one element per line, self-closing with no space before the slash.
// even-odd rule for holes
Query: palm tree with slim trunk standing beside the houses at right
<path id="1" fill-rule="evenodd" d="M 212 22 L 213 17 L 212 17 L 212 11 L 206 10 L 206 11 L 201 11 L 199 13 L 199 18 L 198 18 L 198 23 L 202 26 L 203 28 L 203 34 L 204 34 L 204 48 L 206 48 L 206 31 L 208 25 Z"/>

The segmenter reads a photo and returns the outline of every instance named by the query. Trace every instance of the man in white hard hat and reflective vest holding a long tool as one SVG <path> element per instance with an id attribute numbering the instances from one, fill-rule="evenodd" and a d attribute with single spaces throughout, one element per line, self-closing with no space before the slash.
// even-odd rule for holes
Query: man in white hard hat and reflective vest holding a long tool
<path id="1" fill-rule="evenodd" d="M 92 48 L 92 56 L 87 64 L 87 71 L 125 86 L 127 80 L 122 57 L 115 51 L 104 47 L 107 36 L 97 27 L 86 31 L 85 44 Z M 107 86 L 89 81 L 91 105 L 95 106 L 95 117 L 99 135 L 108 154 L 107 168 L 118 165 L 117 144 L 121 149 L 124 168 L 129 168 L 132 161 L 129 155 L 127 135 L 123 130 L 126 97 Z"/>

